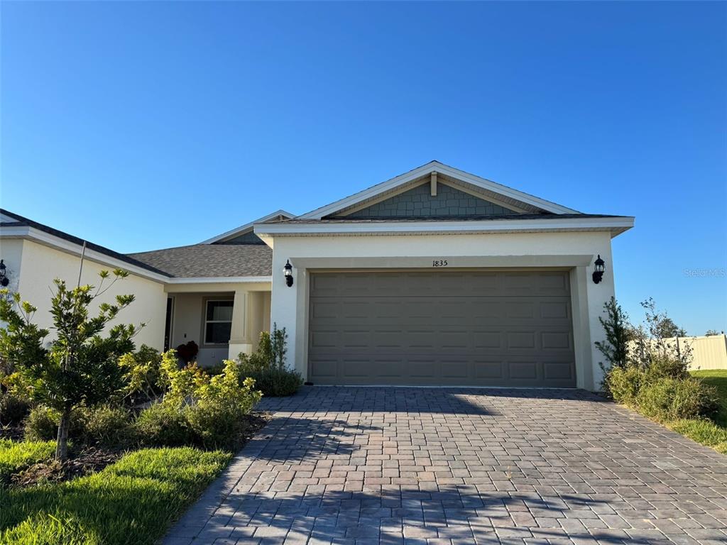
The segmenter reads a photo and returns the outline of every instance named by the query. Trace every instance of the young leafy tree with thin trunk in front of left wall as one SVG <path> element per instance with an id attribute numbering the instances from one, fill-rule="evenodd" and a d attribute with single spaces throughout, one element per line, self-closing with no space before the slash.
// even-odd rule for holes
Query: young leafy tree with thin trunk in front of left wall
<path id="1" fill-rule="evenodd" d="M 98 314 L 89 318 L 89 305 L 129 273 L 116 269 L 113 275 L 106 288 L 103 283 L 110 277 L 105 270 L 100 273 L 98 288 L 69 289 L 65 281 L 54 280 L 56 289 L 50 312 L 56 340 L 49 347 L 44 346 L 49 330 L 32 321 L 36 307 L 21 301 L 20 294 L 0 290 L 0 320 L 7 323 L 5 328 L 0 328 L 0 358 L 38 384 L 34 395 L 60 413 L 55 451 L 58 460 L 68 456 L 68 429 L 73 408 L 99 403 L 111 395 L 123 372 L 117 360 L 134 349 L 132 337 L 138 328 L 120 324 L 103 333 L 119 311 L 134 301 L 133 295 L 116 296 L 116 304 L 101 303 Z"/>

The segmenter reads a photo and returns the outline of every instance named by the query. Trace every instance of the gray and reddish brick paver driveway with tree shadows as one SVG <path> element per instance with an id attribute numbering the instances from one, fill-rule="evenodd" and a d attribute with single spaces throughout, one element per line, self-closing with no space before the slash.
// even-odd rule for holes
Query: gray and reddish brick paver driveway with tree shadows
<path id="1" fill-rule="evenodd" d="M 167 544 L 727 543 L 727 457 L 581 390 L 308 387 Z"/>

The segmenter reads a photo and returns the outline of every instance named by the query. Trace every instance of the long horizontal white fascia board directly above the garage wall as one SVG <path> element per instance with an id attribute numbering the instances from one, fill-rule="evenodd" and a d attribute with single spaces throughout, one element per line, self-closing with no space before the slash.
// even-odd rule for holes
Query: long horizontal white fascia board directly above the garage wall
<path id="1" fill-rule="evenodd" d="M 458 233 L 517 233 L 547 231 L 611 231 L 623 233 L 634 225 L 633 217 L 551 219 L 489 219 L 451 222 L 372 222 L 372 223 L 297 223 L 260 224 L 256 234 L 265 235 L 398 235 L 421 233 L 448 235 Z"/>

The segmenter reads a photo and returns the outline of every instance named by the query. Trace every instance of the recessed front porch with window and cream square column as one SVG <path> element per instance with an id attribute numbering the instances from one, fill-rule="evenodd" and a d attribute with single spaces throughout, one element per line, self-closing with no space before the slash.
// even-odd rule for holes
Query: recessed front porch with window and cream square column
<path id="1" fill-rule="evenodd" d="M 270 330 L 269 283 L 177 284 L 166 292 L 164 350 L 193 341 L 200 366 L 252 353 Z"/>

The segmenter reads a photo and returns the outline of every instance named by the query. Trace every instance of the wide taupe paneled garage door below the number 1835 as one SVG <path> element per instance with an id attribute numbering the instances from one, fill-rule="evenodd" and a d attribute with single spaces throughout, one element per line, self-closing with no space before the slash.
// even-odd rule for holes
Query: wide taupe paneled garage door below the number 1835
<path id="1" fill-rule="evenodd" d="M 575 387 L 565 271 L 313 273 L 314 384 Z"/>

